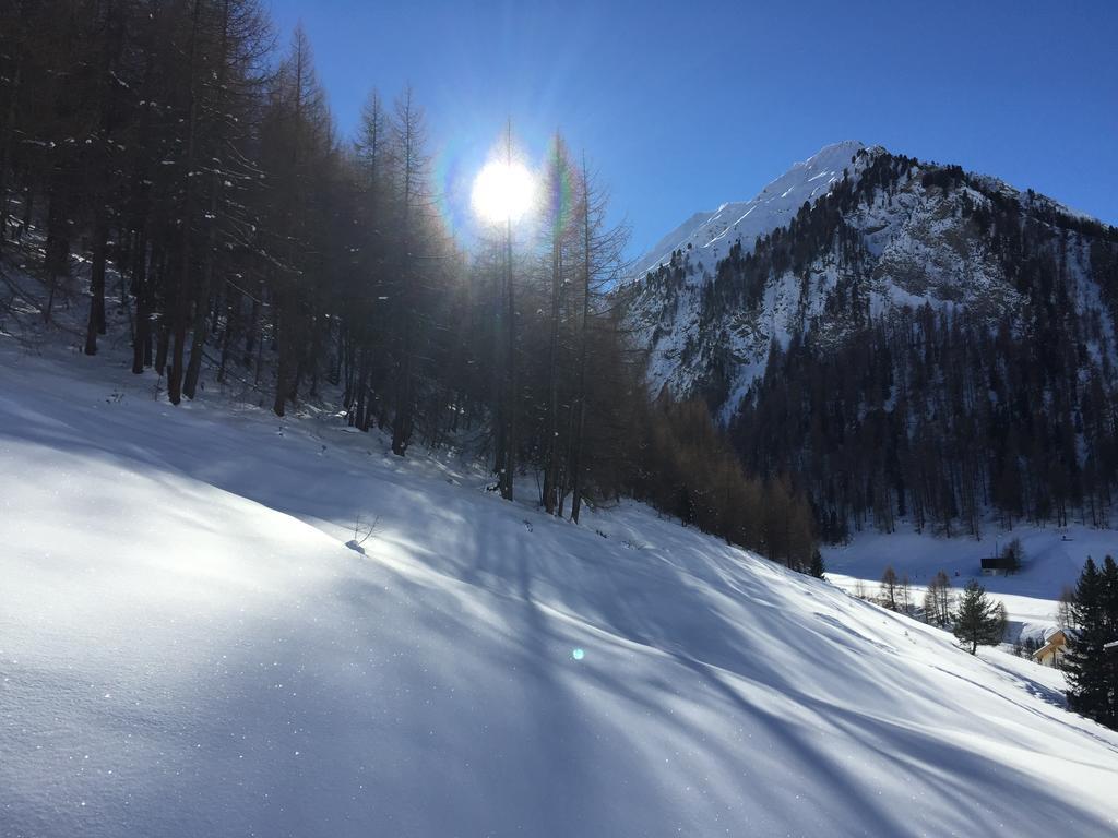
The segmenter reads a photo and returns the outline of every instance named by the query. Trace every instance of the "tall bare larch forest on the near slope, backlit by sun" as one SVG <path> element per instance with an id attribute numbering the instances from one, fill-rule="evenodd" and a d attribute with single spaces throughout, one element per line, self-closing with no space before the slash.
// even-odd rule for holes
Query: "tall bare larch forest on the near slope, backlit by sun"
<path id="1" fill-rule="evenodd" d="M 704 406 L 650 399 L 613 293 L 626 231 L 560 136 L 532 223 L 467 254 L 413 92 L 372 91 L 340 136 L 305 32 L 280 49 L 257 0 L 4 3 L 0 85 L 9 313 L 50 324 L 76 301 L 84 352 L 124 331 L 174 404 L 337 400 L 399 456 L 479 440 L 494 491 L 534 475 L 549 513 L 633 495 L 809 561 L 802 494 L 748 477 Z"/>

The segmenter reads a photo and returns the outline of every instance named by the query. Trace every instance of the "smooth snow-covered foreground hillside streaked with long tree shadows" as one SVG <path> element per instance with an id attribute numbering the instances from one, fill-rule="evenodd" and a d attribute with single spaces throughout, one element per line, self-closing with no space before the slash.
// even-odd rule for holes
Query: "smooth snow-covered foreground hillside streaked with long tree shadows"
<path id="1" fill-rule="evenodd" d="M 1110 836 L 1059 673 L 0 343 L 0 835 Z M 358 517 L 377 520 L 366 554 Z"/>

